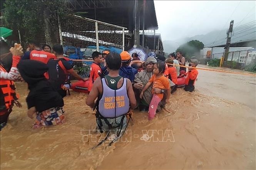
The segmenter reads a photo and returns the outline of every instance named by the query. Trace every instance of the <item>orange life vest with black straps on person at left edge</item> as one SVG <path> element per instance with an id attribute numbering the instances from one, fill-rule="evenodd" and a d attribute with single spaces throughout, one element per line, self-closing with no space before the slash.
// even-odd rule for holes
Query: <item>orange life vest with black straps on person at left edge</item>
<path id="1" fill-rule="evenodd" d="M 6 70 L 1 66 L 1 71 L 6 72 Z M 0 111 L 5 111 L 10 109 L 13 106 L 14 100 L 17 100 L 18 97 L 15 93 L 15 84 L 12 80 L 0 79 L 1 87 L 1 105 Z"/>

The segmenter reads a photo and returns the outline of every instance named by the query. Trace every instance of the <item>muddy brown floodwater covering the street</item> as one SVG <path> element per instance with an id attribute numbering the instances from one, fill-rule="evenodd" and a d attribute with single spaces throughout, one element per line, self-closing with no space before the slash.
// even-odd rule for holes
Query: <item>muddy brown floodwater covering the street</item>
<path id="1" fill-rule="evenodd" d="M 255 84 L 255 76 L 199 70 L 195 92 L 178 89 L 151 121 L 134 111 L 119 142 L 92 150 L 102 137 L 85 135 L 96 125 L 86 94 L 65 97 L 63 125 L 33 130 L 27 86 L 17 83 L 23 108 L 0 132 L 1 170 L 255 169 Z"/>

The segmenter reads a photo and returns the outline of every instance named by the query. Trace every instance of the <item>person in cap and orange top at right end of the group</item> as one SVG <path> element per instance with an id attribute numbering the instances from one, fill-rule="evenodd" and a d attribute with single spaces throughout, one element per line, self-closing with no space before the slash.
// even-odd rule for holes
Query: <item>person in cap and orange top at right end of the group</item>
<path id="1" fill-rule="evenodd" d="M 195 83 L 196 83 L 196 78 L 198 75 L 198 71 L 196 68 L 197 64 L 198 64 L 198 60 L 197 59 L 190 59 L 190 63 L 189 63 L 189 68 L 188 68 L 188 72 L 187 72 L 187 78 L 185 80 L 185 87 L 184 90 L 185 91 L 189 91 L 192 92 L 195 89 Z"/>

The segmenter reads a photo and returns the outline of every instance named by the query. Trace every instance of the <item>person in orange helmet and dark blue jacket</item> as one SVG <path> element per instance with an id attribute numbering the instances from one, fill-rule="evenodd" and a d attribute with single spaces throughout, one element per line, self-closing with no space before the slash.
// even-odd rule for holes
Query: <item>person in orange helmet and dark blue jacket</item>
<path id="1" fill-rule="evenodd" d="M 127 51 L 122 51 L 120 53 L 122 59 L 122 67 L 119 70 L 119 75 L 123 78 L 128 78 L 130 81 L 134 80 L 135 74 L 138 73 L 137 69 L 132 68 L 130 65 L 131 63 L 131 56 Z"/>

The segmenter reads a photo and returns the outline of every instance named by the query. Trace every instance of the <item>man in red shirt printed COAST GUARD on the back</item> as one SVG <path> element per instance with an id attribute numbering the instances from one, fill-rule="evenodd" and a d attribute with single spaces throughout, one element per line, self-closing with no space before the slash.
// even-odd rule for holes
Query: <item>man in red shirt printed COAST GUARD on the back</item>
<path id="1" fill-rule="evenodd" d="M 56 58 L 54 54 L 41 50 L 39 42 L 31 40 L 28 44 L 31 51 L 27 51 L 22 59 L 33 59 L 47 64 L 49 59 Z"/>

